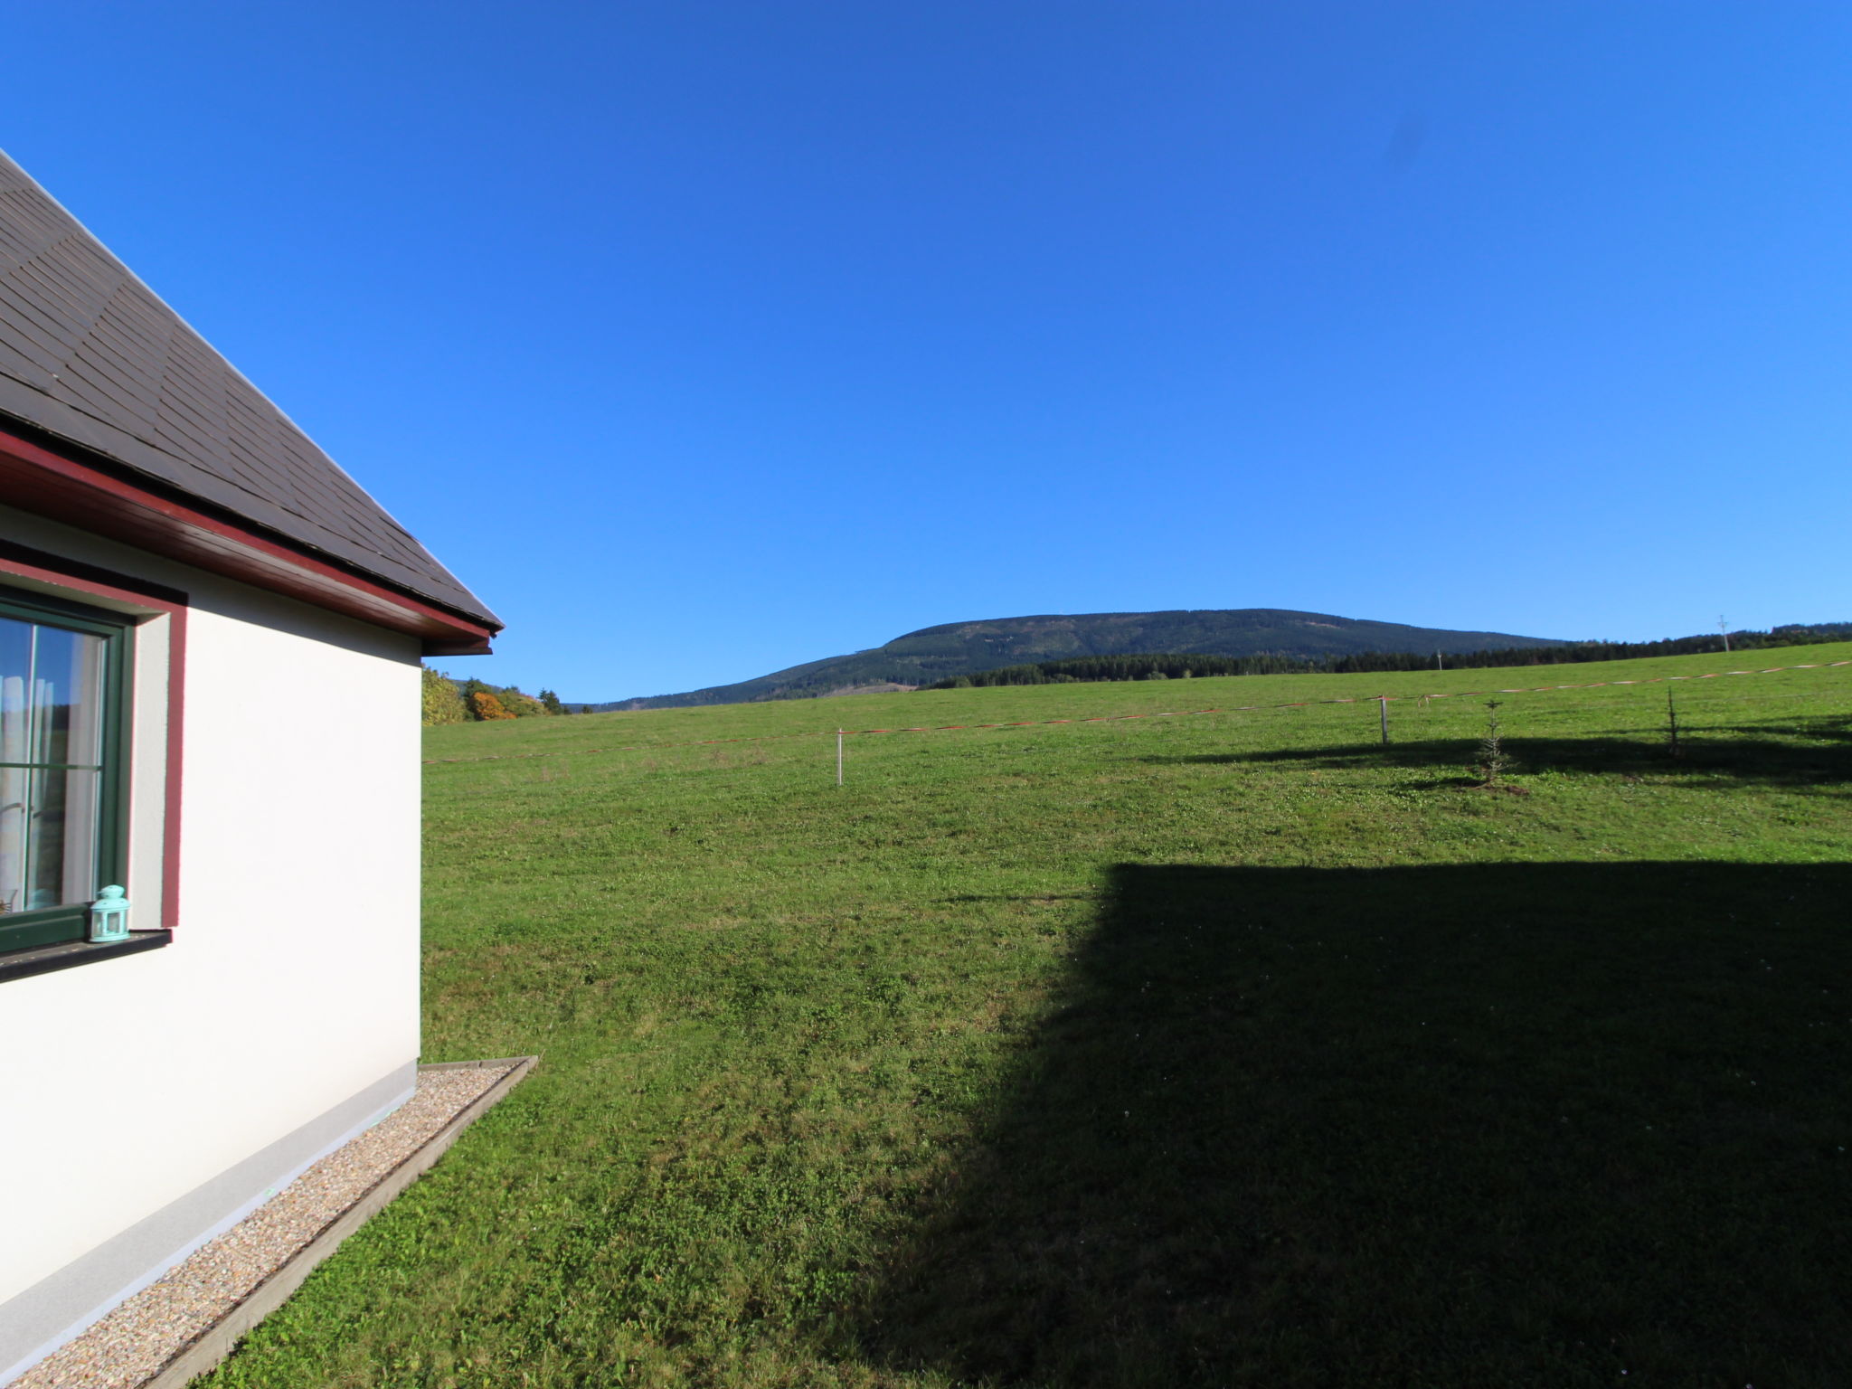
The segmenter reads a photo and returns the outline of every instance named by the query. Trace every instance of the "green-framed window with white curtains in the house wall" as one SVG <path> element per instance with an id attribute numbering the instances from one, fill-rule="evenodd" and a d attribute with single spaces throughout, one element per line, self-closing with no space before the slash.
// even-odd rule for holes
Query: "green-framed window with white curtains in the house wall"
<path id="1" fill-rule="evenodd" d="M 0 952 L 7 952 L 85 939 L 96 893 L 126 883 L 135 624 L 120 613 L 22 589 L 0 589 L 0 620 L 30 630 L 22 646 L 19 626 L 0 626 L 7 643 L 0 648 Z M 96 643 L 81 644 L 81 659 L 46 680 L 37 661 L 61 644 L 56 633 Z M 57 674 L 65 676 L 63 704 Z M 89 746 L 72 746 L 85 720 L 94 720 Z M 74 793 L 80 782 L 83 791 Z M 72 845 L 87 850 L 87 865 L 70 863 Z M 56 874 L 41 872 L 44 863 L 56 863 Z M 56 878 L 56 887 L 43 878 Z"/>

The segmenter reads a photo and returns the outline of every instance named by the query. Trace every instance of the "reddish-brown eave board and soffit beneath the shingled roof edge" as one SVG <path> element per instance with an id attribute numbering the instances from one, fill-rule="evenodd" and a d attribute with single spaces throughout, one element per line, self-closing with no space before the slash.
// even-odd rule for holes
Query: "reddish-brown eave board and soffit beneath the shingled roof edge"
<path id="1" fill-rule="evenodd" d="M 487 656 L 498 624 L 457 613 L 330 556 L 169 494 L 115 467 L 0 430 L 0 496 L 22 511 L 417 637 L 426 656 Z"/>

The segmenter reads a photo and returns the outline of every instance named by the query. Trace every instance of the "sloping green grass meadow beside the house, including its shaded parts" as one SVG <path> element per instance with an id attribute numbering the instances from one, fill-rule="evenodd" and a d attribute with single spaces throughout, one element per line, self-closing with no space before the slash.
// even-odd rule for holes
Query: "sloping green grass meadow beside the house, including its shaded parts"
<path id="1" fill-rule="evenodd" d="M 1848 657 L 433 728 L 541 1067 L 200 1383 L 1845 1385 L 1852 667 L 1456 693 Z"/>

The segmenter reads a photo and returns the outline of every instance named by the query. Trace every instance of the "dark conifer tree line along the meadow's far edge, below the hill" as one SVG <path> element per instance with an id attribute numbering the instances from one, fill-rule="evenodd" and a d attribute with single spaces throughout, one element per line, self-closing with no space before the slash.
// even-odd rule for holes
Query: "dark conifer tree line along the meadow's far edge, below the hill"
<path id="1" fill-rule="evenodd" d="M 1769 632 L 1732 632 L 1732 652 L 1767 646 L 1806 646 L 1817 641 L 1852 639 L 1852 622 L 1789 624 Z M 1376 670 L 1463 670 L 1508 665 L 1574 665 L 1578 661 L 1628 661 L 1643 656 L 1696 656 L 1722 652 L 1721 633 L 1667 637 L 1663 641 L 1574 641 L 1563 646 L 1513 646 L 1483 652 L 1352 652 L 1348 656 L 1200 656 L 1165 652 L 1156 656 L 1080 656 L 1033 665 L 1006 665 L 950 676 L 924 689 L 976 689 L 987 685 L 1065 685 L 1089 680 L 1191 680 L 1195 676 L 1302 676 L 1369 674 Z"/>

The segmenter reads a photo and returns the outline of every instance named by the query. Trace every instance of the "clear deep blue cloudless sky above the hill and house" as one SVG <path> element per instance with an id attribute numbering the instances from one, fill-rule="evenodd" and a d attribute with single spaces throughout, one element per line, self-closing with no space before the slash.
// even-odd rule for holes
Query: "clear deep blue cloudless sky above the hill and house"
<path id="1" fill-rule="evenodd" d="M 1845 4 L 4 4 L 0 146 L 569 700 L 1852 619 Z"/>

